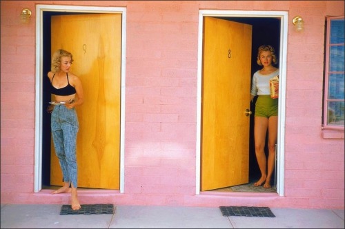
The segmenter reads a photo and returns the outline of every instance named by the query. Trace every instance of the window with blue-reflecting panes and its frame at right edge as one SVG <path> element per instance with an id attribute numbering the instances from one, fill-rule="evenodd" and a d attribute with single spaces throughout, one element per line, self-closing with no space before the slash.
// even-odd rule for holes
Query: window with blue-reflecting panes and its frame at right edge
<path id="1" fill-rule="evenodd" d="M 327 17 L 324 128 L 344 129 L 344 16 Z"/>

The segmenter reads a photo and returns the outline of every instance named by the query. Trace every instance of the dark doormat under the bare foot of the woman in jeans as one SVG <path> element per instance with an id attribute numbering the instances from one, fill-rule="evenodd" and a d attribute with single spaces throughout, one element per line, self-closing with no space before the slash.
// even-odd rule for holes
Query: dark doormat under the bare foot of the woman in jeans
<path id="1" fill-rule="evenodd" d="M 101 215 L 113 214 L 114 205 L 112 204 L 81 204 L 79 210 L 72 210 L 70 205 L 63 205 L 60 215 Z"/>

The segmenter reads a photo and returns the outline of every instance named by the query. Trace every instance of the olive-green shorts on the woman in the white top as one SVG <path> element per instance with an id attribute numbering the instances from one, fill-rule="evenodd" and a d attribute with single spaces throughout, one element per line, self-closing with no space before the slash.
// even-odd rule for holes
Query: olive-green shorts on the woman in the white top
<path id="1" fill-rule="evenodd" d="M 272 99 L 270 95 L 259 95 L 255 103 L 255 117 L 278 116 L 278 99 Z"/>

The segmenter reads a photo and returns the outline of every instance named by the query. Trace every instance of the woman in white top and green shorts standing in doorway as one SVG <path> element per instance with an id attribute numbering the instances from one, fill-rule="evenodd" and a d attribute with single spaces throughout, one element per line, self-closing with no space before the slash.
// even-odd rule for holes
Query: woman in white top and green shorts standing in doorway
<path id="1" fill-rule="evenodd" d="M 277 63 L 275 50 L 272 46 L 260 46 L 257 52 L 257 64 L 263 66 L 253 75 L 252 87 L 250 90 L 250 101 L 258 96 L 255 103 L 255 155 L 261 172 L 260 179 L 254 186 L 270 188 L 270 179 L 275 168 L 275 144 L 277 143 L 278 125 L 278 99 L 270 97 L 269 81 L 279 75 L 279 69 L 273 64 Z M 265 155 L 266 132 L 268 130 L 268 159 Z M 267 172 L 266 172 L 267 166 Z"/>

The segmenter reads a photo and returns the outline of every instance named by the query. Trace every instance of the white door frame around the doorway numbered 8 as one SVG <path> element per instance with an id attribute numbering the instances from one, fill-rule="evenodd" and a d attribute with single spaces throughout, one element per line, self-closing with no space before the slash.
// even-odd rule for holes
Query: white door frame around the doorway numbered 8
<path id="1" fill-rule="evenodd" d="M 196 141 L 196 195 L 200 194 L 201 179 L 201 86 L 202 86 L 202 43 L 204 17 L 274 17 L 280 19 L 279 45 L 279 108 L 277 136 L 277 193 L 284 196 L 284 143 L 286 102 L 286 57 L 288 43 L 288 12 L 250 10 L 199 10 L 198 60 L 197 60 L 197 141 Z M 248 92 L 249 93 L 249 92 Z"/>

